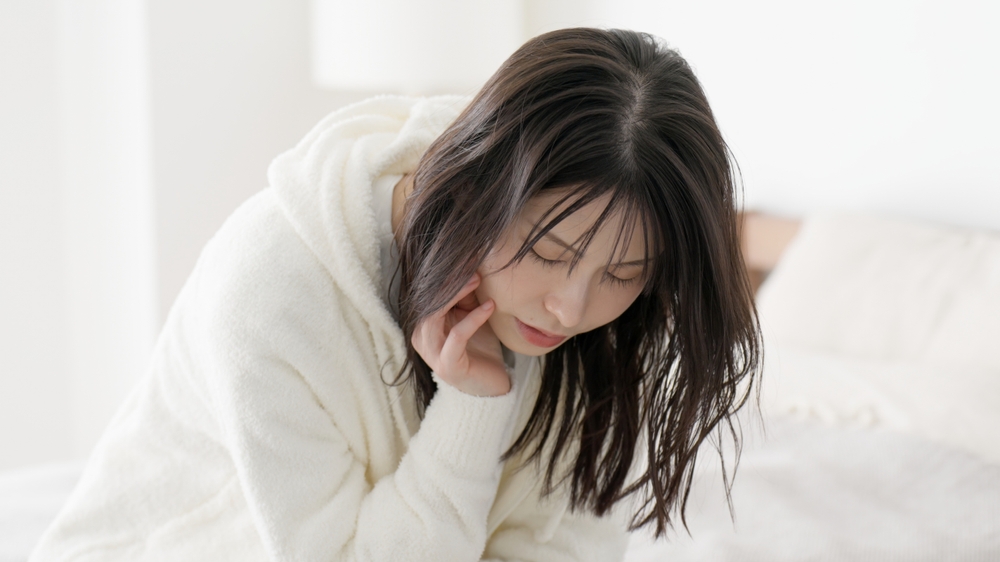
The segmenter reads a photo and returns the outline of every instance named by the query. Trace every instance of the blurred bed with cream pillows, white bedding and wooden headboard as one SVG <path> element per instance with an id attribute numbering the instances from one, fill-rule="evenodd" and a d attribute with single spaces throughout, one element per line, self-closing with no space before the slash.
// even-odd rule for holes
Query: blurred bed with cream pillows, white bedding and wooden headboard
<path id="1" fill-rule="evenodd" d="M 688 528 L 634 534 L 626 560 L 1000 560 L 1000 234 L 743 224 L 766 360 L 732 512 L 706 454 Z M 79 470 L 0 474 L 0 562 L 27 558 Z"/>

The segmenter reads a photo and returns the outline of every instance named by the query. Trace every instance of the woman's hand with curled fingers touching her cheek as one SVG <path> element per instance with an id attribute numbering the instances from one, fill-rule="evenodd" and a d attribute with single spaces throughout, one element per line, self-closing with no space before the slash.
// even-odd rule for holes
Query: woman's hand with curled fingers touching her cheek
<path id="1" fill-rule="evenodd" d="M 413 348 L 438 378 L 458 390 L 500 396 L 510 392 L 510 376 L 500 340 L 486 323 L 496 305 L 492 299 L 480 304 L 474 293 L 480 279 L 474 274 L 451 302 L 417 324 Z"/>

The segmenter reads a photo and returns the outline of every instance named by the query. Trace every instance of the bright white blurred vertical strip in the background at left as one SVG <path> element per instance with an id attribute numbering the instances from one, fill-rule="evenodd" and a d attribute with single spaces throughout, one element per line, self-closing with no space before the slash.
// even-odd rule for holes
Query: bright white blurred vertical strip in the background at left
<path id="1" fill-rule="evenodd" d="M 145 370 L 159 314 L 144 6 L 58 3 L 71 452 Z"/>

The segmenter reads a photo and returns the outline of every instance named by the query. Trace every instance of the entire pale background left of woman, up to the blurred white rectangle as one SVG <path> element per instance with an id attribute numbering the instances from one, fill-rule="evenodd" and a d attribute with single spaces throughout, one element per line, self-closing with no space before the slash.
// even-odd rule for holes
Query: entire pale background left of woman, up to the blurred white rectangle
<path id="1" fill-rule="evenodd" d="M 307 0 L 0 3 L 0 470 L 87 454 L 202 246 L 357 94 Z"/>

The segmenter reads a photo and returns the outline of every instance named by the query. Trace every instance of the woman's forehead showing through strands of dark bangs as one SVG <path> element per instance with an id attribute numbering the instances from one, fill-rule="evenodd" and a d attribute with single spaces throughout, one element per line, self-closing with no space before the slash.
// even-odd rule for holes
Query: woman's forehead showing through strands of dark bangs
<path id="1" fill-rule="evenodd" d="M 601 216 L 611 204 L 611 198 L 611 193 L 606 193 L 590 201 L 553 224 L 549 232 L 570 245 L 580 244 L 601 220 Z M 552 190 L 532 197 L 521 213 L 522 228 L 537 233 L 577 200 L 578 196 L 567 190 Z M 611 259 L 618 258 L 621 261 L 642 259 L 645 256 L 645 238 L 637 213 L 626 213 L 619 205 L 603 219 L 593 233 L 588 253 L 591 248 L 600 248 L 600 253 L 609 254 L 608 257 Z"/>

